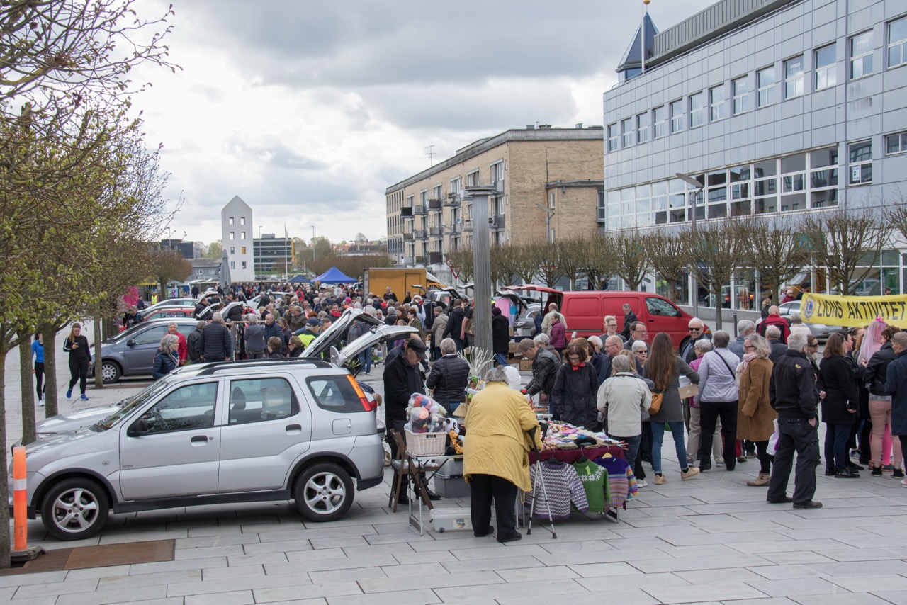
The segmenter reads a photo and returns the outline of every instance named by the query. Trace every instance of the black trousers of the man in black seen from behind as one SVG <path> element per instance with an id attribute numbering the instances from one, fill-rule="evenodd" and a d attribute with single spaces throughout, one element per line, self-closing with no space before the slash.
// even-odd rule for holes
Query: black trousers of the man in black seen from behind
<path id="1" fill-rule="evenodd" d="M 794 502 L 805 503 L 815 495 L 815 467 L 819 465 L 819 430 L 805 418 L 778 418 L 778 451 L 768 483 L 767 499 L 785 497 L 796 452 Z"/>

